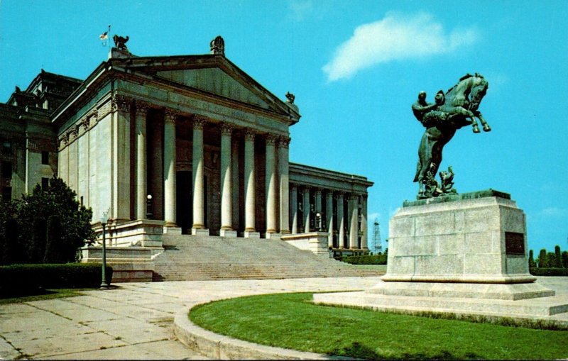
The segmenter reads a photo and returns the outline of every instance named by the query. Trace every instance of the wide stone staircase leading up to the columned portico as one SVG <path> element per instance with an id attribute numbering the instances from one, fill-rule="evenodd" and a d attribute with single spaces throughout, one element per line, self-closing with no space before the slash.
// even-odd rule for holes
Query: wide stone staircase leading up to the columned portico
<path id="1" fill-rule="evenodd" d="M 384 274 L 299 250 L 282 240 L 164 235 L 153 281 L 354 277 Z"/>

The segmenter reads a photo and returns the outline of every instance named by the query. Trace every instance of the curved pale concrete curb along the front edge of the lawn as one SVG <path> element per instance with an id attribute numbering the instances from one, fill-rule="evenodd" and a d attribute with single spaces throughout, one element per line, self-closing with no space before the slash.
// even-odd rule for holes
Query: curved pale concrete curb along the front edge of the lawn
<path id="1" fill-rule="evenodd" d="M 337 360 L 340 358 L 258 345 L 219 335 L 192 323 L 187 316 L 187 310 L 176 313 L 174 332 L 188 348 L 216 360 Z"/>

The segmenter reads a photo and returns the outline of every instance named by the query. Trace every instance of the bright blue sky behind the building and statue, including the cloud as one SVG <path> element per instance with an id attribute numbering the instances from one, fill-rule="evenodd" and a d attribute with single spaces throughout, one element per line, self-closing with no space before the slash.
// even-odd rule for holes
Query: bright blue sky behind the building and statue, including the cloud
<path id="1" fill-rule="evenodd" d="M 444 148 L 461 193 L 493 188 L 527 214 L 529 248 L 568 249 L 568 1 L 0 0 L 0 101 L 43 68 L 84 79 L 107 57 L 99 35 L 135 55 L 226 56 L 302 118 L 290 160 L 361 174 L 382 238 L 414 199 L 423 128 L 410 105 L 467 72 L 484 74 L 491 133 L 463 128 Z M 372 230 L 370 232 L 372 236 Z M 371 237 L 372 238 L 372 237 Z"/>

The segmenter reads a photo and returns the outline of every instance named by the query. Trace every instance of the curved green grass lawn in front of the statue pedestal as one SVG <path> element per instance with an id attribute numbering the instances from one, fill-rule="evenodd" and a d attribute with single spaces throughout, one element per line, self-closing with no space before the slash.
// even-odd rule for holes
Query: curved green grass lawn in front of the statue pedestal
<path id="1" fill-rule="evenodd" d="M 568 331 L 471 323 L 311 304 L 312 294 L 269 294 L 197 306 L 190 319 L 263 345 L 367 359 L 557 359 Z"/>

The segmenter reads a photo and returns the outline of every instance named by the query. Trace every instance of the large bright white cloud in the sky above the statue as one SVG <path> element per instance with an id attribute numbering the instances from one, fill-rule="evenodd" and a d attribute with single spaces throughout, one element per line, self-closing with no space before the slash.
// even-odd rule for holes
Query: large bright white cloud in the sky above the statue
<path id="1" fill-rule="evenodd" d="M 329 82 L 349 79 L 359 70 L 382 62 L 453 52 L 475 43 L 477 38 L 473 28 L 445 33 L 442 24 L 428 13 L 387 13 L 380 21 L 358 26 L 323 70 Z"/>

